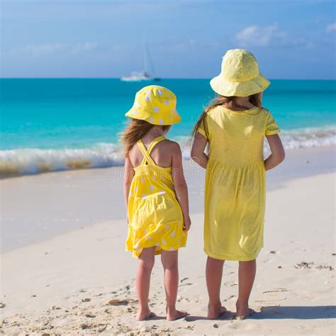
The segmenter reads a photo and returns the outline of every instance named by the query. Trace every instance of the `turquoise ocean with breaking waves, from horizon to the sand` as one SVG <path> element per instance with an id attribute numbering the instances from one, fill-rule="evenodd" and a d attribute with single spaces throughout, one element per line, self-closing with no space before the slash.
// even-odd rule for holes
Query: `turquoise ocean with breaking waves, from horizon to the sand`
<path id="1" fill-rule="evenodd" d="M 162 79 L 177 94 L 181 123 L 169 138 L 186 140 L 214 93 L 208 79 Z M 119 79 L 0 79 L 0 175 L 123 164 L 118 133 L 135 92 L 153 82 Z M 336 143 L 336 81 L 271 80 L 264 92 L 286 148 Z"/>

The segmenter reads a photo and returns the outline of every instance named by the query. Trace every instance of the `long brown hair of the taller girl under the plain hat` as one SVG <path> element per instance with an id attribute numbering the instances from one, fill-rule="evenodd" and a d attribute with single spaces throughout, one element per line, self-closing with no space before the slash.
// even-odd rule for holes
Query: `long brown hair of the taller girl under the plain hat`
<path id="1" fill-rule="evenodd" d="M 196 137 L 197 133 L 198 133 L 198 128 L 203 124 L 203 128 L 204 131 L 206 132 L 206 138 L 208 138 L 208 125 L 206 123 L 206 114 L 215 106 L 220 106 L 220 105 L 225 105 L 227 103 L 230 103 L 230 101 L 233 102 L 233 106 L 235 108 L 237 108 L 237 111 L 241 111 L 239 110 L 239 106 L 237 106 L 236 102 L 235 102 L 235 98 L 237 98 L 236 96 L 229 96 L 229 97 L 225 97 L 225 96 L 216 96 L 210 103 L 208 106 L 206 106 L 206 108 L 204 108 L 203 113 L 201 114 L 201 116 L 199 117 L 196 125 L 194 126 L 194 129 L 191 132 L 191 136 L 190 136 L 190 142 L 192 142 L 194 140 L 194 138 Z M 250 96 L 249 99 L 250 103 L 252 103 L 254 106 L 258 106 L 258 107 L 262 107 L 262 100 L 261 100 L 261 94 L 257 93 L 257 94 L 252 94 Z"/>

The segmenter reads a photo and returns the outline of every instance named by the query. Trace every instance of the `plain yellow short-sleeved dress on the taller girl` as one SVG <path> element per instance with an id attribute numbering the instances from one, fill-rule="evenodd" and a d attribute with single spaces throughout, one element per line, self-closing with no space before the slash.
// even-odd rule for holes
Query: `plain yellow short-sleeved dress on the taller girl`
<path id="1" fill-rule="evenodd" d="M 264 245 L 264 136 L 279 133 L 279 127 L 257 106 L 245 111 L 215 106 L 204 123 L 209 144 L 204 251 L 215 259 L 256 259 Z M 198 132 L 207 138 L 204 123 Z"/>

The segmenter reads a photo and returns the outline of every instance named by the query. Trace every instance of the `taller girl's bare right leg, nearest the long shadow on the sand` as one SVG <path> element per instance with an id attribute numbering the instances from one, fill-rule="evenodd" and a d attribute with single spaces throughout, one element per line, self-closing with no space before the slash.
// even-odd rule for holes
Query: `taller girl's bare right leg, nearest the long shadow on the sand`
<path id="1" fill-rule="evenodd" d="M 237 316 L 240 318 L 247 318 L 247 316 L 254 313 L 254 310 L 249 308 L 249 298 L 252 291 L 256 272 L 256 261 L 239 262 L 239 294 L 236 303 Z"/>

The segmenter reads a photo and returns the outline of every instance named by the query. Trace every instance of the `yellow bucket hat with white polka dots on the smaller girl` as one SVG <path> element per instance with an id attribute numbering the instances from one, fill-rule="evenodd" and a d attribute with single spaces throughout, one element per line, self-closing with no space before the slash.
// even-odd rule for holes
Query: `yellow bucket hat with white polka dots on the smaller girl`
<path id="1" fill-rule="evenodd" d="M 163 86 L 149 85 L 135 94 L 133 107 L 125 116 L 153 125 L 172 125 L 181 121 L 176 106 L 177 97 L 172 91 Z"/>

